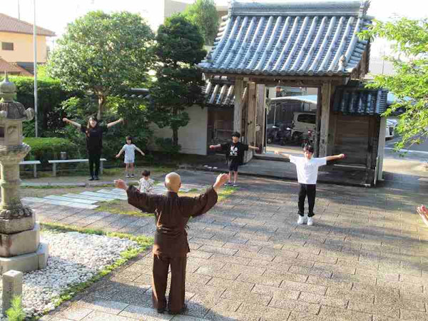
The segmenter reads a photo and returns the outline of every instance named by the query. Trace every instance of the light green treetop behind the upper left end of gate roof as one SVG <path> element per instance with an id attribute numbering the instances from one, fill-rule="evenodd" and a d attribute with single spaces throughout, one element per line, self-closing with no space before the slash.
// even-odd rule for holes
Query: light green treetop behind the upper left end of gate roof
<path id="1" fill-rule="evenodd" d="M 196 0 L 183 12 L 185 19 L 198 26 L 207 46 L 213 46 L 218 32 L 218 14 L 214 0 Z"/>

